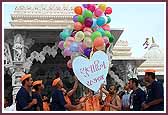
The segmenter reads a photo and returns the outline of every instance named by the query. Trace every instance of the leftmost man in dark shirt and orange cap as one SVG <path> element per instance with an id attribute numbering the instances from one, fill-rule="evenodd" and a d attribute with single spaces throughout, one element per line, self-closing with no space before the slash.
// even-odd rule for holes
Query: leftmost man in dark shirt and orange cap
<path id="1" fill-rule="evenodd" d="M 31 74 L 25 74 L 21 77 L 22 87 L 16 95 L 17 111 L 32 111 L 33 105 L 37 104 L 37 99 L 32 99 L 32 78 Z"/>

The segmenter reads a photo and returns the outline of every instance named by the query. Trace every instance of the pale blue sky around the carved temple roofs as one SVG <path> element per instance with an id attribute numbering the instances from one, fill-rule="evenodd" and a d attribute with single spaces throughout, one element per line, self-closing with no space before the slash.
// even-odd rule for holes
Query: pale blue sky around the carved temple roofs
<path id="1" fill-rule="evenodd" d="M 14 12 L 17 4 L 4 4 L 4 27 L 9 27 L 11 21 L 10 14 Z M 82 5 L 82 4 L 80 4 Z M 148 49 L 144 49 L 145 39 L 152 38 L 161 49 L 165 50 L 165 23 L 164 5 L 157 4 L 137 4 L 137 3 L 108 3 L 113 12 L 111 17 L 111 28 L 124 29 L 119 40 L 128 41 L 132 48 L 133 57 L 143 57 Z M 151 42 L 151 41 L 150 41 Z"/>

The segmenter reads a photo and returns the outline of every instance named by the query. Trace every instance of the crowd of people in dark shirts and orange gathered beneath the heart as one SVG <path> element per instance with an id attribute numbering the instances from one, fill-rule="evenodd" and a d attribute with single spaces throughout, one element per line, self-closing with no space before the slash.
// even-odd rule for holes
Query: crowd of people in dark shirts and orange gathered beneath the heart
<path id="1" fill-rule="evenodd" d="M 131 78 L 123 91 L 115 84 L 107 88 L 102 84 L 98 92 L 85 88 L 84 96 L 72 103 L 71 96 L 76 92 L 78 80 L 70 91 L 64 88 L 60 76 L 52 82 L 52 96 L 42 94 L 42 80 L 32 80 L 31 74 L 21 77 L 22 87 L 16 95 L 16 111 L 163 111 L 163 85 L 156 80 L 155 70 L 145 70 L 146 90 L 139 87 L 139 81 Z"/>

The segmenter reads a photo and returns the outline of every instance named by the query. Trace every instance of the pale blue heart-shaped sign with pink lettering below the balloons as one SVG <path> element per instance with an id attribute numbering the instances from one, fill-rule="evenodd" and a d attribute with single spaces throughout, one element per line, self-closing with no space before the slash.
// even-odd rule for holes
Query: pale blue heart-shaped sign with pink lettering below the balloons
<path id="1" fill-rule="evenodd" d="M 109 69 L 108 55 L 103 51 L 97 51 L 91 59 L 78 56 L 73 60 L 72 68 L 83 85 L 97 92 L 100 85 L 106 83 Z"/>

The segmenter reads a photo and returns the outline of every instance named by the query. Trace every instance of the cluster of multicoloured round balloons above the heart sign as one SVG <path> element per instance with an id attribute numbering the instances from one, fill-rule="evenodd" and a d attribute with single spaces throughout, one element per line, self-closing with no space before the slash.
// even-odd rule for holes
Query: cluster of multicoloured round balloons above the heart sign
<path id="1" fill-rule="evenodd" d="M 74 29 L 64 29 L 60 33 L 58 47 L 64 56 L 70 56 L 68 68 L 72 68 L 72 60 L 79 55 L 90 58 L 95 51 L 105 51 L 114 40 L 109 23 L 112 8 L 106 4 L 83 4 L 74 8 Z"/>

